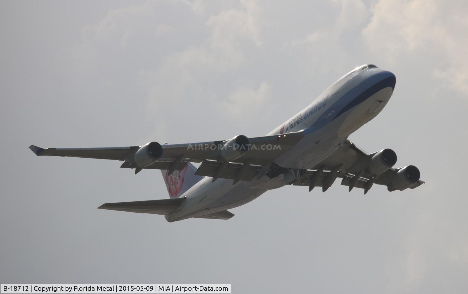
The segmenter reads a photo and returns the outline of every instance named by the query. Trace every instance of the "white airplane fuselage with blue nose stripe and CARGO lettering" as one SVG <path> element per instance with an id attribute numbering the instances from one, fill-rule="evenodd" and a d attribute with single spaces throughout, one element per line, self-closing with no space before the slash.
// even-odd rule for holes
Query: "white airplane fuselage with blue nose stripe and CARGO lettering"
<path id="1" fill-rule="evenodd" d="M 395 75 L 374 65 L 364 65 L 329 86 L 307 108 L 273 129 L 269 135 L 304 130 L 304 138 L 274 160 L 278 166 L 310 169 L 327 158 L 346 138 L 385 107 L 395 88 Z M 267 168 L 267 167 L 265 167 Z M 262 175 L 262 173 L 261 173 Z M 168 222 L 238 207 L 268 190 L 291 183 L 291 174 L 263 176 L 250 182 L 205 177 L 181 197 L 186 201 L 166 215 Z"/>

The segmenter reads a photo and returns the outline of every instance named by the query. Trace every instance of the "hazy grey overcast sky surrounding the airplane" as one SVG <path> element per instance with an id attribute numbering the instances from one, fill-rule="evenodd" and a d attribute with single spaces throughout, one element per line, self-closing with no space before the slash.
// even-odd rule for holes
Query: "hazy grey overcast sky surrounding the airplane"
<path id="1" fill-rule="evenodd" d="M 468 2 L 0 1 L 0 282 L 230 283 L 233 293 L 468 293 Z M 96 209 L 159 171 L 36 157 L 263 136 L 336 79 L 396 75 L 349 138 L 426 184 L 285 186 L 228 221 Z"/>

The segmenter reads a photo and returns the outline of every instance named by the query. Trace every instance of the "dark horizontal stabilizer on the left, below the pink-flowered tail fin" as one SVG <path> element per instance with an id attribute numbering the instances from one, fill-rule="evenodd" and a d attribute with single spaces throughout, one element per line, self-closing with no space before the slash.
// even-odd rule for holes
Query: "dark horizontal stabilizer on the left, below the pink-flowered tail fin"
<path id="1" fill-rule="evenodd" d="M 100 209 L 167 215 L 181 207 L 185 198 L 104 203 Z"/>

